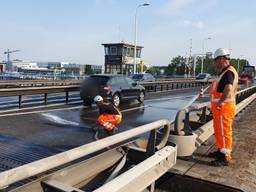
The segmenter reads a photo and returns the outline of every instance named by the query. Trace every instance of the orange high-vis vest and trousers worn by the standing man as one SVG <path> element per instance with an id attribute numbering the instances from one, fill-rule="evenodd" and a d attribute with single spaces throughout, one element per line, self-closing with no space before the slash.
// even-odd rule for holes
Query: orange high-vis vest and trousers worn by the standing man
<path id="1" fill-rule="evenodd" d="M 225 99 L 220 109 L 217 104 L 222 97 L 222 93 L 218 93 L 217 89 L 223 75 L 231 71 L 234 74 L 231 94 Z M 231 160 L 232 150 L 232 123 L 236 113 L 236 92 L 238 88 L 238 74 L 233 66 L 229 66 L 223 71 L 216 80 L 213 80 L 210 88 L 210 100 L 213 113 L 213 126 L 218 149 L 226 155 L 227 160 Z"/>

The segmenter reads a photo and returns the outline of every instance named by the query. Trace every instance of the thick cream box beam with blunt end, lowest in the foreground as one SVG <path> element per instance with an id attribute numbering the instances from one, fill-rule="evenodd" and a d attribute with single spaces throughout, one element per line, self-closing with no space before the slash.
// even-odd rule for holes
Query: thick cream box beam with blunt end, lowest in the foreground
<path id="1" fill-rule="evenodd" d="M 176 149 L 166 146 L 139 165 L 95 190 L 95 192 L 140 192 L 176 164 Z M 151 186 L 154 191 L 154 185 Z"/>

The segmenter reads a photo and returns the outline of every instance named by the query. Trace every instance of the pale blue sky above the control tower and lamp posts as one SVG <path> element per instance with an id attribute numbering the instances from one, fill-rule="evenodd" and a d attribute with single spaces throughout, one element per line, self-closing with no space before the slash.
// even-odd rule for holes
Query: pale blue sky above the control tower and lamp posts
<path id="1" fill-rule="evenodd" d="M 102 43 L 134 42 L 151 65 L 167 65 L 177 55 L 228 47 L 233 57 L 256 64 L 254 0 L 0 0 L 0 60 L 103 64 Z"/>

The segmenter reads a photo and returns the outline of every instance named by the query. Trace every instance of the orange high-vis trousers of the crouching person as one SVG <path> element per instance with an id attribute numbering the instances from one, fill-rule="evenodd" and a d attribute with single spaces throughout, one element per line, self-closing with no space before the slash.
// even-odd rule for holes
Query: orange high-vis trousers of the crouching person
<path id="1" fill-rule="evenodd" d="M 108 113 L 103 113 L 99 116 L 98 122 L 100 125 L 104 127 L 107 131 L 112 131 L 114 127 L 121 123 L 122 121 L 122 115 L 113 115 Z"/>

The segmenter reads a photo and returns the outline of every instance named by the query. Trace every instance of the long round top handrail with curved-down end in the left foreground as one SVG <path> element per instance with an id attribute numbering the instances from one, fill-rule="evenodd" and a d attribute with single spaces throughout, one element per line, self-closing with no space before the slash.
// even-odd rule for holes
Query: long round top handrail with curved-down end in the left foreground
<path id="1" fill-rule="evenodd" d="M 164 135 L 160 143 L 156 144 L 156 130 L 164 127 Z M 153 123 L 139 126 L 137 128 L 110 136 L 89 144 L 80 146 L 75 149 L 71 149 L 66 152 L 59 153 L 57 155 L 47 157 L 5 172 L 0 173 L 0 189 L 9 186 L 17 181 L 29 178 L 31 176 L 43 173 L 52 168 L 64 165 L 66 163 L 72 162 L 76 159 L 84 157 L 86 155 L 104 150 L 107 147 L 119 144 L 121 142 L 127 141 L 129 139 L 138 137 L 144 133 L 151 132 L 150 140 L 148 142 L 148 154 L 152 155 L 155 153 L 156 149 L 163 148 L 168 140 L 168 135 L 170 133 L 170 122 L 168 120 L 159 120 Z M 154 138 L 154 140 L 152 139 Z"/>

